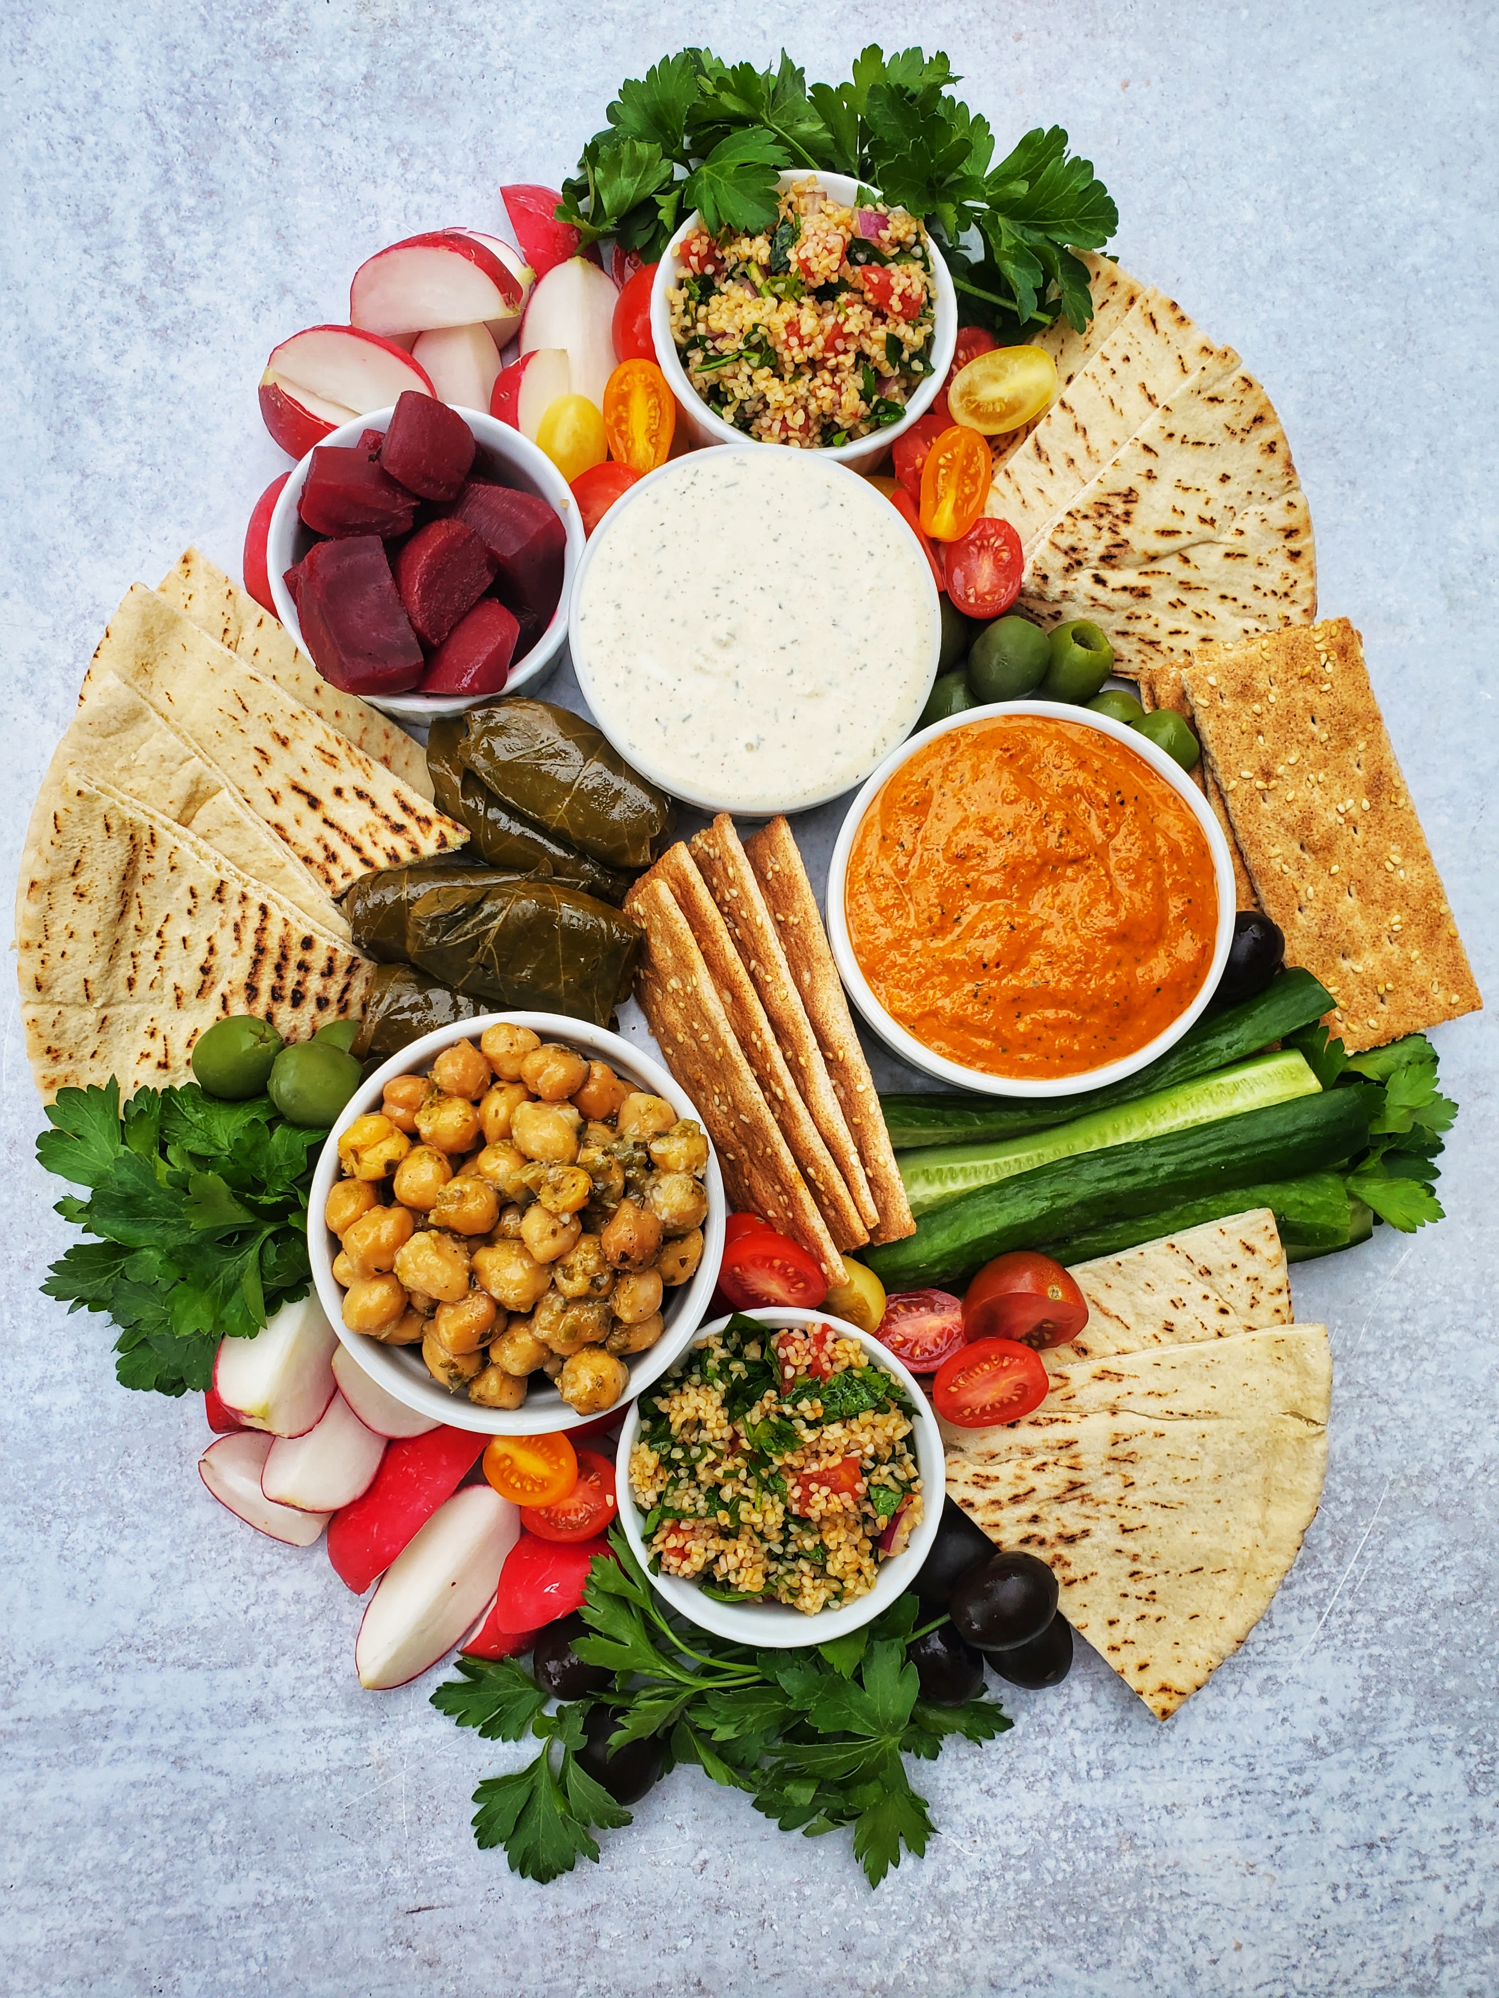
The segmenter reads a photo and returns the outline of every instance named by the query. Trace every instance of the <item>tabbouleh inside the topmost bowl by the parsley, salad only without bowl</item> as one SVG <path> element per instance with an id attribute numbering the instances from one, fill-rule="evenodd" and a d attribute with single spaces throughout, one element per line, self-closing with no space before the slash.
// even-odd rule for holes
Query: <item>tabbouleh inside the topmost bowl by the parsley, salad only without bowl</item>
<path id="1" fill-rule="evenodd" d="M 931 374 L 931 246 L 903 208 L 843 208 L 803 180 L 773 232 L 698 230 L 680 256 L 668 298 L 688 380 L 763 444 L 867 438 Z"/>

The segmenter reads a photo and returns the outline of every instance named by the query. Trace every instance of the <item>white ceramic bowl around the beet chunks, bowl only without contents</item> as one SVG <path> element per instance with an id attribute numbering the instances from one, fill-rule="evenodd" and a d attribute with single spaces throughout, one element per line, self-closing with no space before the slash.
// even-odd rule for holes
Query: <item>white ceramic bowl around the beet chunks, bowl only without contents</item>
<path id="1" fill-rule="evenodd" d="M 558 607 L 552 611 L 552 623 L 538 637 L 520 665 L 512 669 L 504 685 L 506 693 L 522 693 L 526 687 L 538 687 L 556 669 L 562 647 L 568 639 L 568 603 L 572 601 L 572 585 L 578 575 L 578 563 L 584 559 L 584 521 L 578 511 L 578 501 L 572 496 L 572 488 L 546 452 L 538 452 L 530 438 L 522 438 L 522 434 L 510 424 L 502 424 L 498 418 L 486 416 L 480 410 L 458 410 L 458 416 L 464 418 L 478 444 L 474 470 L 488 474 L 504 486 L 514 486 L 516 492 L 536 494 L 538 500 L 546 500 L 546 503 L 562 515 L 562 525 L 568 533 L 568 545 L 562 557 L 562 595 L 558 597 Z M 366 430 L 384 432 L 390 418 L 392 410 L 372 410 L 370 416 L 358 416 L 352 424 L 344 424 L 342 430 L 332 432 L 332 436 L 322 442 L 358 444 Z M 310 466 L 312 452 L 308 452 L 308 456 L 294 466 L 292 476 L 276 501 L 276 509 L 270 515 L 270 529 L 266 533 L 266 569 L 270 573 L 270 593 L 276 599 L 276 615 L 304 651 L 302 619 L 296 613 L 296 603 L 292 601 L 292 591 L 286 587 L 284 577 L 288 569 L 302 561 L 306 551 L 318 539 L 310 527 L 302 525 L 296 511 Z M 492 701 L 496 695 L 476 693 L 472 697 L 462 697 L 452 693 L 372 693 L 364 695 L 364 699 L 368 699 L 372 707 L 380 707 L 384 713 L 396 715 L 398 721 L 428 723 L 440 721 L 444 715 L 468 713 L 470 707 L 478 707 L 480 701 Z"/>

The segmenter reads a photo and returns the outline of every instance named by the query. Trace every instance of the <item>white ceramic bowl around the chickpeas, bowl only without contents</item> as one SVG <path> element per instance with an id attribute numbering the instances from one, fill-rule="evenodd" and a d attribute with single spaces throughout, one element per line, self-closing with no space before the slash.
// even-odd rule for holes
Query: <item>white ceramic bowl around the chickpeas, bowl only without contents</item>
<path id="1" fill-rule="evenodd" d="M 594 1027 L 582 1019 L 568 1019 L 562 1013 L 486 1013 L 480 1019 L 464 1019 L 452 1027 L 440 1027 L 436 1033 L 422 1035 L 420 1041 L 412 1041 L 410 1047 L 400 1049 L 400 1053 L 392 1055 L 384 1067 L 376 1069 L 360 1085 L 344 1107 L 312 1175 L 308 1253 L 312 1257 L 318 1303 L 328 1315 L 328 1323 L 338 1333 L 350 1357 L 358 1361 L 372 1381 L 394 1395 L 396 1401 L 408 1409 L 420 1409 L 422 1415 L 430 1415 L 434 1423 L 446 1423 L 450 1429 L 472 1429 L 486 1437 L 540 1437 L 556 1429 L 578 1429 L 580 1423 L 592 1423 L 596 1417 L 578 1415 L 554 1387 L 548 1387 L 546 1393 L 538 1393 L 532 1387 L 520 1409 L 480 1409 L 466 1395 L 450 1395 L 446 1387 L 438 1387 L 422 1361 L 420 1347 L 382 1347 L 378 1339 L 368 1339 L 364 1333 L 350 1333 L 344 1325 L 344 1291 L 334 1281 L 338 1237 L 330 1235 L 322 1219 L 328 1205 L 328 1189 L 340 1177 L 338 1139 L 356 1117 L 380 1107 L 386 1083 L 396 1075 L 414 1075 L 430 1069 L 444 1047 L 452 1047 L 454 1041 L 478 1041 L 486 1027 L 494 1027 L 500 1021 L 530 1027 L 544 1041 L 566 1041 L 568 1047 L 576 1047 L 578 1053 L 588 1055 L 592 1061 L 608 1061 L 616 1075 L 628 1083 L 636 1083 L 638 1089 L 650 1089 L 652 1095 L 666 1097 L 678 1117 L 696 1117 L 702 1123 L 692 1097 L 672 1081 L 666 1069 L 618 1033 L 608 1033 L 604 1027 Z M 644 1387 L 650 1387 L 652 1381 L 666 1373 L 672 1361 L 690 1345 L 718 1283 L 718 1265 L 724 1261 L 726 1199 L 724 1175 L 718 1169 L 712 1139 L 704 1185 L 708 1189 L 704 1259 L 690 1283 L 666 1293 L 666 1331 L 662 1337 L 646 1353 L 630 1359 L 628 1393 L 632 1397 L 640 1395 Z M 620 1407 L 624 1409 L 624 1403 Z"/>

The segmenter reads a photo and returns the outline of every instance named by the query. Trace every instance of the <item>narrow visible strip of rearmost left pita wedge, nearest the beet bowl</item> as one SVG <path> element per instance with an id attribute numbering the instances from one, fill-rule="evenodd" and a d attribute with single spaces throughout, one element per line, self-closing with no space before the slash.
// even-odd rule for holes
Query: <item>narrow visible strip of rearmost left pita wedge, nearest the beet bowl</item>
<path id="1" fill-rule="evenodd" d="M 264 611 L 248 589 L 240 589 L 234 577 L 200 549 L 190 547 L 178 565 L 166 571 L 156 593 L 246 665 L 274 679 L 292 699 L 322 715 L 328 727 L 338 729 L 376 763 L 384 763 L 420 797 L 432 797 L 432 775 L 422 743 L 386 719 L 378 707 L 330 685 L 312 659 L 298 651 L 286 625 Z"/>

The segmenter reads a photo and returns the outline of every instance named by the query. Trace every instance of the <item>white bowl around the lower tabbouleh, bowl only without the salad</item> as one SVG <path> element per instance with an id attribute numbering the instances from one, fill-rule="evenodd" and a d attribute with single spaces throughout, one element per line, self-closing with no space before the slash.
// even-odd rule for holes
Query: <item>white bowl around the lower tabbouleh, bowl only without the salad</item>
<path id="1" fill-rule="evenodd" d="M 913 1451 L 921 1469 L 921 1524 L 913 1528 L 911 1538 L 899 1554 L 891 1554 L 889 1560 L 879 1562 L 879 1572 L 869 1594 L 859 1596 L 857 1602 L 849 1602 L 841 1610 L 817 1610 L 815 1616 L 805 1616 L 783 1602 L 714 1602 L 712 1596 L 702 1592 L 698 1582 L 688 1582 L 680 1574 L 650 1574 L 650 1548 L 640 1534 L 642 1514 L 630 1493 L 630 1451 L 640 1441 L 640 1407 L 636 1403 L 632 1403 L 626 1415 L 616 1457 L 620 1524 L 636 1552 L 636 1560 L 646 1568 L 652 1586 L 666 1604 L 692 1622 L 702 1624 L 704 1630 L 712 1630 L 714 1636 L 761 1650 L 825 1644 L 829 1638 L 859 1630 L 871 1618 L 879 1616 L 881 1610 L 887 1610 L 895 1596 L 911 1586 L 921 1570 L 921 1562 L 931 1552 L 931 1542 L 937 1538 L 937 1526 L 941 1524 L 941 1498 L 947 1489 L 947 1457 L 941 1447 L 941 1431 L 937 1429 L 937 1417 L 931 1413 L 931 1403 L 921 1393 L 915 1377 L 877 1339 L 861 1333 L 857 1325 L 849 1325 L 845 1319 L 829 1319 L 825 1311 L 791 1311 L 787 1307 L 746 1311 L 742 1317 L 755 1319 L 769 1331 L 785 1331 L 795 1325 L 831 1325 L 839 1337 L 857 1339 L 869 1359 L 899 1381 L 915 1409 Z M 728 1323 L 728 1319 L 714 1319 L 712 1325 L 704 1325 L 698 1337 L 720 1333 Z M 690 1345 L 692 1341 L 682 1343 L 678 1359 Z"/>

